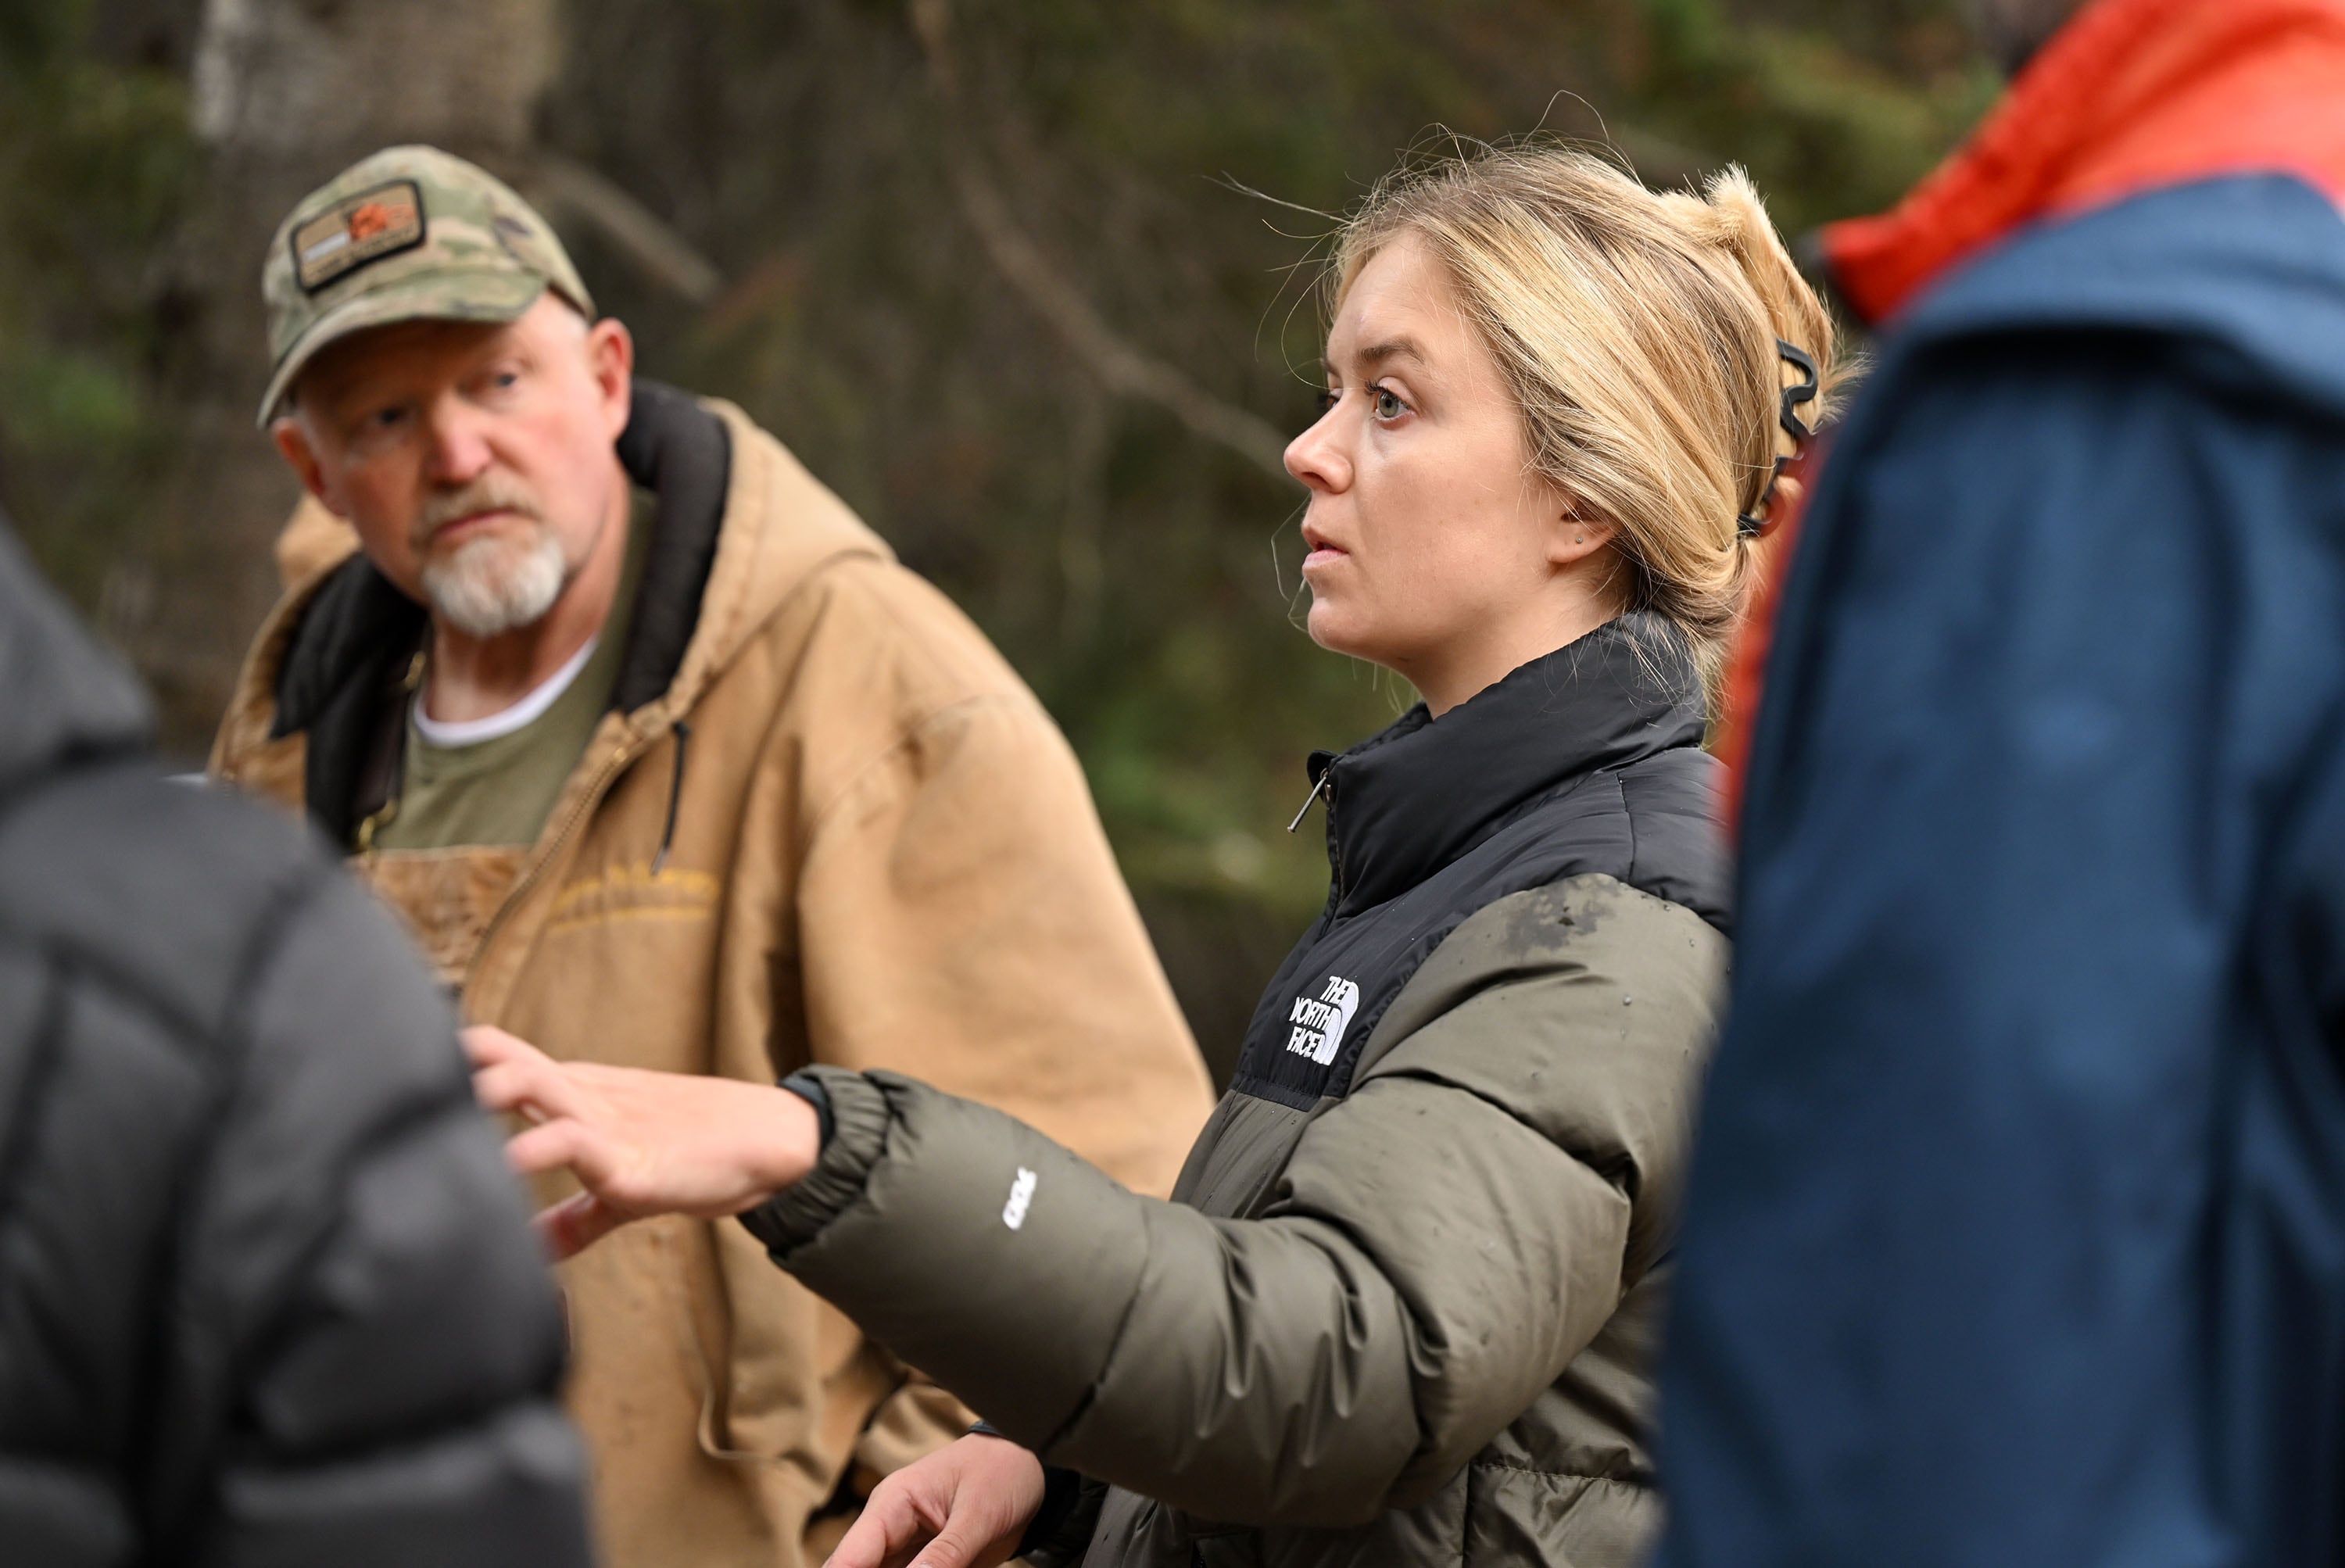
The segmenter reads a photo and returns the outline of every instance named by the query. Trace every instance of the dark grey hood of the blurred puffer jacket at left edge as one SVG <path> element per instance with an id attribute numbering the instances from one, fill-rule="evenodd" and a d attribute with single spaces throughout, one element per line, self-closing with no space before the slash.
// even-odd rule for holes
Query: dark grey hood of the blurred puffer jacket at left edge
<path id="1" fill-rule="evenodd" d="M 0 790 L 84 757 L 134 752 L 152 731 L 145 694 L 49 591 L 0 516 Z"/>

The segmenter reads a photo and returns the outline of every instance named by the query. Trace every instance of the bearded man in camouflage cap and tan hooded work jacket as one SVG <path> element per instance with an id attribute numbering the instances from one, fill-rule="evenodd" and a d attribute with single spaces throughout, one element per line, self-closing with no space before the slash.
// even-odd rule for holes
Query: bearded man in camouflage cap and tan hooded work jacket
<path id="1" fill-rule="evenodd" d="M 741 410 L 635 382 L 471 164 L 347 169 L 263 286 L 260 422 L 359 551 L 260 630 L 220 778 L 342 844 L 474 1024 L 898 1069 L 1170 1188 L 1196 1048 L 1081 769 L 943 595 Z M 734 1221 L 628 1226 L 563 1284 L 617 1568 L 809 1561 L 968 1420 Z"/>

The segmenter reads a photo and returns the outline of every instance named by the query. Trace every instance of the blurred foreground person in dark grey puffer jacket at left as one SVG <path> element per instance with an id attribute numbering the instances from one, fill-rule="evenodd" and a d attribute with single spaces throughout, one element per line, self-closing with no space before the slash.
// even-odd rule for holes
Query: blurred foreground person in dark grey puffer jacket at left
<path id="1" fill-rule="evenodd" d="M 584 1566 L 560 1364 L 455 1015 L 0 523 L 0 1561 Z"/>

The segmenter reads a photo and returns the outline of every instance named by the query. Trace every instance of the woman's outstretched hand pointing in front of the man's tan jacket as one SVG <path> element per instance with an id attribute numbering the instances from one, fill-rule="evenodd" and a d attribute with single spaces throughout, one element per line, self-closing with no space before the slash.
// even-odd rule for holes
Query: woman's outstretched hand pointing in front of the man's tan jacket
<path id="1" fill-rule="evenodd" d="M 739 1078 L 556 1062 L 504 1029 L 464 1031 L 471 1090 L 532 1127 L 504 1146 L 514 1170 L 570 1170 L 586 1188 L 537 1216 L 556 1259 L 631 1219 L 755 1209 L 800 1181 L 823 1151 L 814 1106 Z"/>

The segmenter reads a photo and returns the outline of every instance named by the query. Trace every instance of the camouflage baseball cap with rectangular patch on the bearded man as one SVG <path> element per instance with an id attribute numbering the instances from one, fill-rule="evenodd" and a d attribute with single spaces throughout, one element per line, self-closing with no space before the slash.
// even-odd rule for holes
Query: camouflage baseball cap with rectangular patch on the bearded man
<path id="1" fill-rule="evenodd" d="M 260 427 L 335 338 L 392 321 L 511 321 L 556 291 L 593 300 L 553 227 L 514 190 L 439 148 L 385 148 L 312 190 L 260 267 L 277 368 Z"/>

